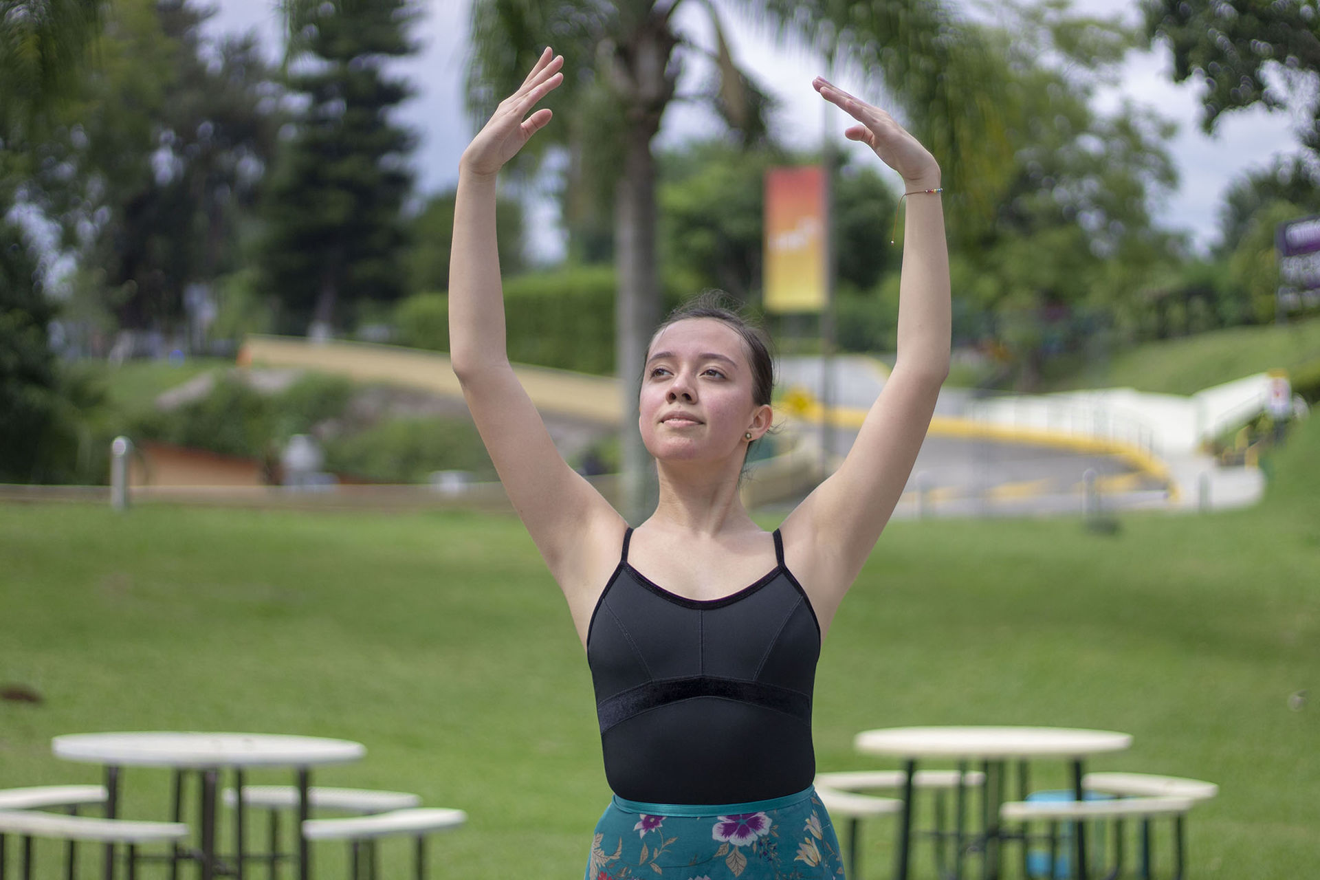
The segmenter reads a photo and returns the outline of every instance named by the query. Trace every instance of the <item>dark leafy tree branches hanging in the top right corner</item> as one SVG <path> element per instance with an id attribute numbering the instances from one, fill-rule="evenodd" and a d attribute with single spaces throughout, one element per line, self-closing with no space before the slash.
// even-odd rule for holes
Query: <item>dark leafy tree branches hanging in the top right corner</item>
<path id="1" fill-rule="evenodd" d="M 1272 70 L 1286 92 L 1309 104 L 1311 121 L 1298 132 L 1320 150 L 1320 13 L 1312 0 L 1143 0 L 1146 33 L 1173 53 L 1173 82 L 1204 83 L 1201 128 L 1214 131 L 1220 116 L 1254 104 L 1280 108 L 1290 95 L 1270 88 Z"/>

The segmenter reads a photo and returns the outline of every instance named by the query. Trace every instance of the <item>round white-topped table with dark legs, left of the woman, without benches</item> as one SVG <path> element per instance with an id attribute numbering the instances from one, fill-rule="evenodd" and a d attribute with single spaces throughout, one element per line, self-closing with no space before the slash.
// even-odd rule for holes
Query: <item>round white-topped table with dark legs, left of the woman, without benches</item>
<path id="1" fill-rule="evenodd" d="M 70 734 L 50 741 L 57 757 L 106 767 L 106 814 L 119 809 L 119 770 L 123 767 L 164 767 L 174 770 L 174 821 L 182 813 L 183 773 L 195 770 L 201 786 L 201 864 L 202 879 L 211 880 L 218 867 L 215 792 L 219 773 L 234 773 L 235 788 L 243 788 L 243 769 L 249 767 L 292 767 L 298 788 L 298 876 L 310 877 L 309 846 L 302 822 L 309 818 L 308 790 L 312 769 L 323 764 L 346 764 L 367 753 L 362 743 L 321 736 L 284 734 L 210 734 L 195 731 L 128 731 Z M 243 877 L 243 798 L 238 800 L 235 840 L 238 855 L 234 873 Z M 177 862 L 176 851 L 176 862 Z M 110 852 L 107 851 L 107 859 Z M 273 858 L 273 854 L 272 854 Z M 107 860 L 106 873 L 111 872 Z"/>

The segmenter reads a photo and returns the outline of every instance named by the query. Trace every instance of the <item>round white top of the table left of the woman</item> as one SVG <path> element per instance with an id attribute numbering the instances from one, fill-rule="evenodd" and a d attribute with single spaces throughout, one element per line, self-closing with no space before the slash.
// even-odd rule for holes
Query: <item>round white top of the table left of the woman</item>
<path id="1" fill-rule="evenodd" d="M 141 731 L 55 736 L 57 757 L 137 767 L 310 767 L 346 764 L 367 753 L 362 743 L 284 734 L 205 734 Z"/>

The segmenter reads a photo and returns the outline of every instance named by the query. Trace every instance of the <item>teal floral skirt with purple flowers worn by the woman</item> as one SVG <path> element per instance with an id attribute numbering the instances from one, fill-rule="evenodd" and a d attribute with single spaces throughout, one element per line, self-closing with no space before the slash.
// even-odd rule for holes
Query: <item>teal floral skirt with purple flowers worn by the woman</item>
<path id="1" fill-rule="evenodd" d="M 746 803 L 642 803 L 614 796 L 585 880 L 841 880 L 843 860 L 814 788 Z"/>

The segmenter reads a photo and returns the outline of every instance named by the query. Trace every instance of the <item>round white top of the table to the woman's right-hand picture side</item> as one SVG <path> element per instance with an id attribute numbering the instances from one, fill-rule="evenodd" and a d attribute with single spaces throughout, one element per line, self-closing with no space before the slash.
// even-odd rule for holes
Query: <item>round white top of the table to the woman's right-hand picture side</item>
<path id="1" fill-rule="evenodd" d="M 1084 757 L 1131 744 L 1130 734 L 1071 727 L 890 727 L 853 739 L 863 755 L 966 759 Z"/>

